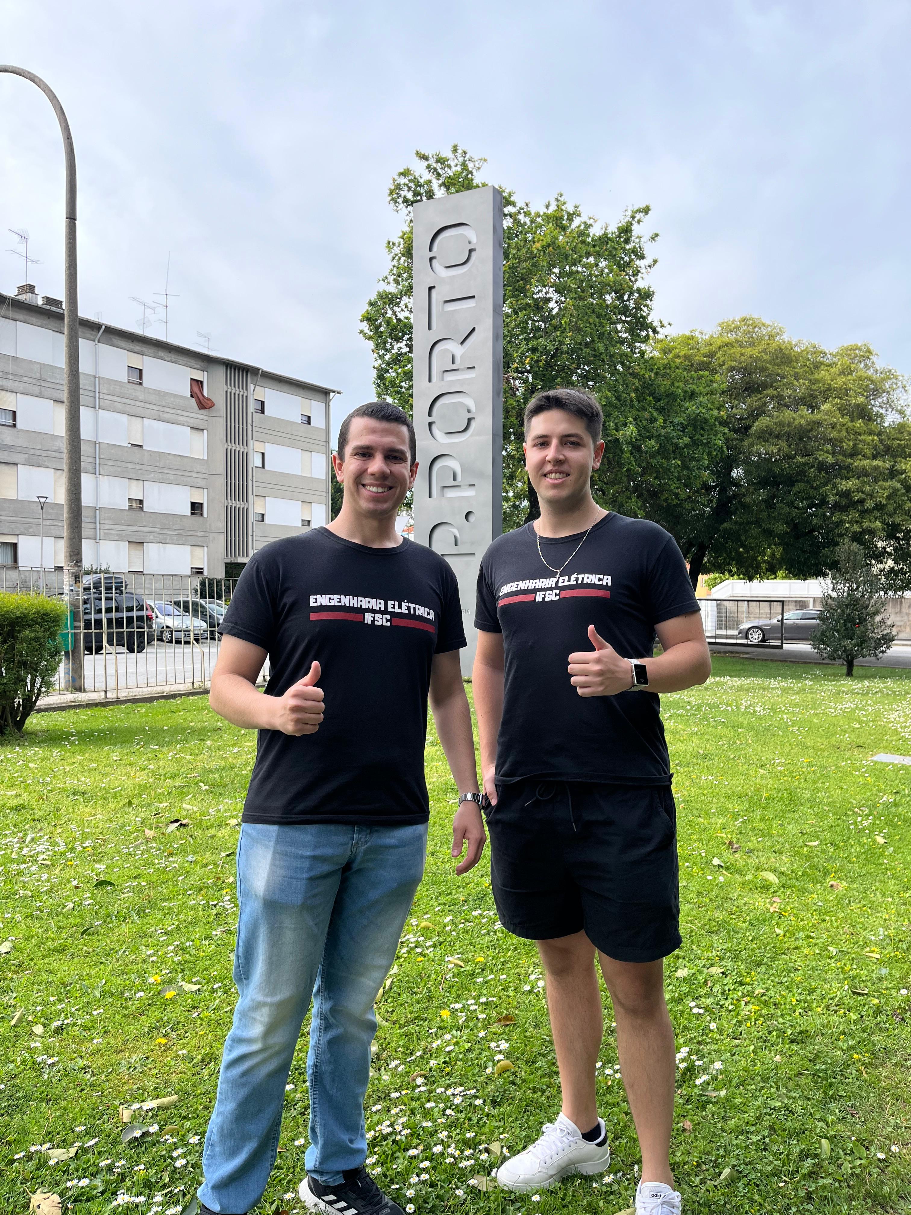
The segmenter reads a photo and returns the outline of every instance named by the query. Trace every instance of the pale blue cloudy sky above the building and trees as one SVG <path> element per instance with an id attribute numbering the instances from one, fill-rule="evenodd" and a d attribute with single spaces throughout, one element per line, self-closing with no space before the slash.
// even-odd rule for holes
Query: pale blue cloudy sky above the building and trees
<path id="1" fill-rule="evenodd" d="M 80 312 L 140 328 L 170 256 L 170 339 L 340 390 L 335 429 L 391 177 L 453 142 L 534 205 L 650 205 L 670 330 L 753 313 L 911 375 L 910 51 L 906 0 L 0 0 L 73 131 Z M 62 296 L 56 119 L 0 75 L 6 292 L 23 227 Z"/>

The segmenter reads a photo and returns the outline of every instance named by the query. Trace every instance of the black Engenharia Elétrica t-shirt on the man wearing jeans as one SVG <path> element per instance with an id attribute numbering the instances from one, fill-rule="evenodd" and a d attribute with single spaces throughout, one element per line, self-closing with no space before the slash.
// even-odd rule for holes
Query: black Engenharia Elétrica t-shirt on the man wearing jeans
<path id="1" fill-rule="evenodd" d="M 441 556 L 324 527 L 273 541 L 248 561 L 219 632 L 268 650 L 267 696 L 313 661 L 326 695 L 316 734 L 259 731 L 244 823 L 426 823 L 431 661 L 465 645 Z"/>

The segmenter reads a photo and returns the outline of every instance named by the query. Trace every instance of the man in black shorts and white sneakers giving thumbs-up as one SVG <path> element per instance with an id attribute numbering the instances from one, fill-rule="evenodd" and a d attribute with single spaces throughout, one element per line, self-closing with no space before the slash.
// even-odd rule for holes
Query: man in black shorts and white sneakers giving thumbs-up
<path id="1" fill-rule="evenodd" d="M 526 1192 L 607 1169 L 596 953 L 643 1153 L 636 1215 L 679 1215 L 662 961 L 680 945 L 677 832 L 656 693 L 705 683 L 711 660 L 673 538 L 592 497 L 601 422 L 598 402 L 575 389 L 528 405 L 526 469 L 541 518 L 496 539 L 477 578 L 474 695 L 493 893 L 503 926 L 537 943 L 562 1089 L 556 1120 L 497 1180 Z"/>

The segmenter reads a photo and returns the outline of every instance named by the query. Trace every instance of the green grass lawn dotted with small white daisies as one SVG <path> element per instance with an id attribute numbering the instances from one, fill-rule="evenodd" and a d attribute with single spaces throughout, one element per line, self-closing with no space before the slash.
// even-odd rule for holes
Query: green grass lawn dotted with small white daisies
<path id="1" fill-rule="evenodd" d="M 911 753 L 910 676 L 719 657 L 708 684 L 664 700 L 688 1213 L 909 1210 L 911 768 L 870 757 Z M 189 1202 L 234 1002 L 254 741 L 199 697 L 39 714 L 0 746 L 2 1215 L 38 1188 L 78 1215 L 118 1196 L 142 1215 Z M 638 1151 L 610 1028 L 611 1172 L 539 1200 L 469 1183 L 494 1164 L 485 1145 L 515 1152 L 555 1117 L 556 1064 L 537 955 L 498 927 L 486 860 L 452 872 L 455 791 L 434 739 L 428 765 L 430 859 L 378 1004 L 369 1166 L 418 1213 L 624 1210 Z M 121 1142 L 119 1107 L 171 1096 Z M 306 1128 L 301 1045 L 261 1210 L 302 1205 Z"/>

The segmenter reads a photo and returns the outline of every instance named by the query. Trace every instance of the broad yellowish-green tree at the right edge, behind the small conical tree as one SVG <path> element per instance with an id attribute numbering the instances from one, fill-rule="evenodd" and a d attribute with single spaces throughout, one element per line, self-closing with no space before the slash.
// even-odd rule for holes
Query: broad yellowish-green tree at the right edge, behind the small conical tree
<path id="1" fill-rule="evenodd" d="M 868 346 L 827 351 L 758 317 L 657 346 L 720 392 L 720 454 L 674 529 L 694 586 L 702 570 L 817 576 L 845 539 L 901 581 L 911 535 L 901 377 Z"/>

